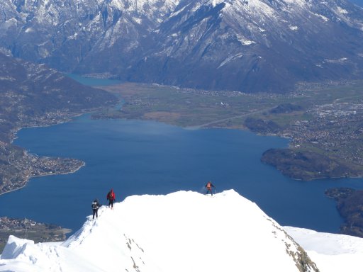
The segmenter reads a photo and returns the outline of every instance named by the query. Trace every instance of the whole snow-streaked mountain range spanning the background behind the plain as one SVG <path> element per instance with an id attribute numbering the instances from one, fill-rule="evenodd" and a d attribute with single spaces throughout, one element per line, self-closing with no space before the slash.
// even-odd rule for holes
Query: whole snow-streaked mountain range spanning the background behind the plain
<path id="1" fill-rule="evenodd" d="M 345 0 L 5 0 L 0 46 L 62 71 L 286 92 L 363 78 L 363 8 Z"/>

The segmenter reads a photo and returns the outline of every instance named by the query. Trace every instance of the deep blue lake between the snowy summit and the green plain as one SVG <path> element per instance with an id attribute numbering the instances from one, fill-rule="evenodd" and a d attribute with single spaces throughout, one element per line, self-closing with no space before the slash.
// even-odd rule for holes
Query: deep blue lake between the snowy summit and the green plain
<path id="1" fill-rule="evenodd" d="M 106 204 L 111 188 L 120 201 L 135 194 L 204 193 L 211 180 L 218 192 L 238 191 L 281 225 L 338 232 L 342 218 L 325 189 L 363 189 L 363 179 L 289 179 L 260 162 L 265 150 L 286 147 L 288 140 L 241 130 L 186 130 L 83 115 L 61 125 L 20 130 L 14 143 L 40 156 L 82 159 L 86 166 L 74 174 L 31 179 L 25 188 L 0 196 L 0 216 L 28 217 L 74 231 L 91 214 L 94 198 Z M 245 215 L 240 210 L 235 216 Z"/>

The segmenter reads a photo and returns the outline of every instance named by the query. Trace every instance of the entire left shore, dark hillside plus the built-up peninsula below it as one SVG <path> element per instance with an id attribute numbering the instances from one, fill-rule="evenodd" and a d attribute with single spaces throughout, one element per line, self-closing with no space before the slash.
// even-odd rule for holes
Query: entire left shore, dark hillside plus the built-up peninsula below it
<path id="1" fill-rule="evenodd" d="M 44 64 L 0 53 L 0 193 L 21 188 L 31 176 L 65 174 L 82 166 L 75 159 L 36 157 L 11 145 L 19 128 L 54 125 L 116 101 Z"/>

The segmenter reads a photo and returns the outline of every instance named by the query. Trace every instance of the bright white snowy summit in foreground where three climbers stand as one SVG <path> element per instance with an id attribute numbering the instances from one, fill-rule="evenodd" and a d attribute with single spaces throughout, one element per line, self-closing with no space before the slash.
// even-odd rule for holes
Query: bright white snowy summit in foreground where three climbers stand
<path id="1" fill-rule="evenodd" d="M 318 271 L 255 203 L 225 191 L 131 196 L 62 243 L 10 237 L 0 271 Z"/>

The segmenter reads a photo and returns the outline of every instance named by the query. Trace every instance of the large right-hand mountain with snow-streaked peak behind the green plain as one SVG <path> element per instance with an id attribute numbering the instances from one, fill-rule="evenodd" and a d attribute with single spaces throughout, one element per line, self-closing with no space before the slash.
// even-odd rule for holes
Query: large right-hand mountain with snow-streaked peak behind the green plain
<path id="1" fill-rule="evenodd" d="M 159 28 L 162 50 L 145 56 L 133 75 L 274 92 L 298 81 L 362 78 L 362 10 L 335 1 L 219 2 L 179 4 Z"/>

